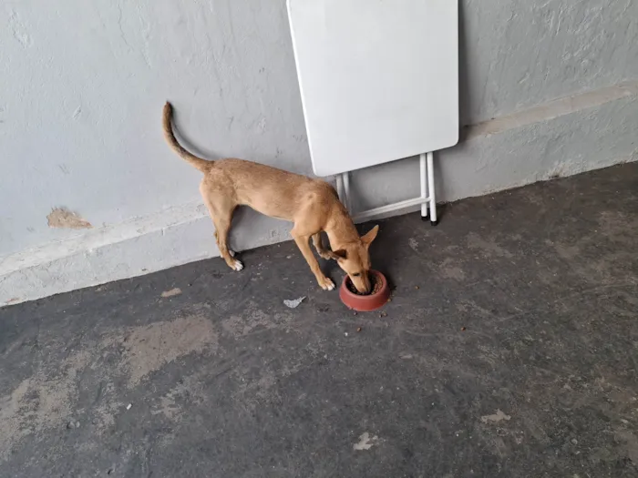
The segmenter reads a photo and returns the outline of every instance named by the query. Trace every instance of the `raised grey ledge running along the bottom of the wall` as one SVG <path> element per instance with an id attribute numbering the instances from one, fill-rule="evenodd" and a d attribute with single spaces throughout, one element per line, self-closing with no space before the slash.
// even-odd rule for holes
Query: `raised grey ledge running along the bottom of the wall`
<path id="1" fill-rule="evenodd" d="M 638 82 L 562 98 L 469 127 L 458 147 L 437 153 L 437 198 L 453 201 L 638 158 Z M 610 127 L 614 125 L 614 127 Z M 418 195 L 415 161 L 353 175 L 359 208 Z M 387 171 L 400 178 L 394 187 Z M 399 215 L 410 210 L 393 211 Z M 290 238 L 289 223 L 242 210 L 232 247 Z M 0 259 L 0 306 L 36 300 L 219 256 L 201 204 L 185 204 Z"/>

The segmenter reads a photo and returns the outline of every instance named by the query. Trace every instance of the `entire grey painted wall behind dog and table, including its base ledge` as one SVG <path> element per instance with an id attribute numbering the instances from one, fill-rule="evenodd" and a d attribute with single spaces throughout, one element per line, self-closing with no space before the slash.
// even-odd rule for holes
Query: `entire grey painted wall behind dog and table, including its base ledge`
<path id="1" fill-rule="evenodd" d="M 461 15 L 460 113 L 478 126 L 437 156 L 441 200 L 635 158 L 638 4 L 463 0 Z M 5 2 L 0 65 L 0 304 L 217 254 L 200 173 L 161 138 L 165 99 L 205 156 L 310 174 L 284 0 Z M 356 203 L 417 195 L 413 168 L 355 174 Z M 58 207 L 94 229 L 49 228 Z M 287 239 L 238 219 L 237 249 Z"/>

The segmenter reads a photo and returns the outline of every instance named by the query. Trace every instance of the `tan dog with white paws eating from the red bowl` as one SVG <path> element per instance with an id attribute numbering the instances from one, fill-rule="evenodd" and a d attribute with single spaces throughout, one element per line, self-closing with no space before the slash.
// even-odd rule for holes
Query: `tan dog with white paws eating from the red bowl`
<path id="1" fill-rule="evenodd" d="M 319 255 L 336 260 L 356 290 L 364 294 L 370 291 L 368 249 L 376 238 L 378 225 L 359 237 L 336 191 L 321 179 L 307 178 L 243 159 L 209 161 L 196 157 L 175 137 L 172 111 L 167 102 L 162 117 L 164 137 L 181 158 L 204 173 L 200 184 L 201 197 L 211 214 L 221 257 L 232 270 L 243 269 L 242 262 L 235 259 L 234 252 L 228 249 L 232 214 L 238 206 L 248 206 L 271 218 L 293 222 L 291 235 L 322 289 L 334 290 L 334 282 L 321 271 L 310 249 L 311 238 Z M 321 231 L 327 234 L 332 250 L 324 249 Z"/>

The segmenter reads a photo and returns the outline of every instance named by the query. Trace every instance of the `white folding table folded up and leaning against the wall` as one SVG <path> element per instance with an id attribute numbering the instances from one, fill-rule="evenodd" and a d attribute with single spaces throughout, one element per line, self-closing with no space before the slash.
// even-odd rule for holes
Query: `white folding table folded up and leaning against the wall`
<path id="1" fill-rule="evenodd" d="M 419 156 L 420 196 L 354 213 L 421 205 L 437 223 L 433 151 L 458 142 L 457 0 L 288 0 L 314 173 Z M 353 212 L 353 211 L 351 211 Z"/>

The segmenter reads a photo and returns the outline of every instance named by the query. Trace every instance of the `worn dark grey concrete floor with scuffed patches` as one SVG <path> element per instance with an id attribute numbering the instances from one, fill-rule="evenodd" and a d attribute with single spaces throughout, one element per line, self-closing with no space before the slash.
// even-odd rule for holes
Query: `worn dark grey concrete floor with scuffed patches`
<path id="1" fill-rule="evenodd" d="M 292 243 L 0 310 L 0 476 L 638 476 L 638 164 L 443 213 L 383 316 Z"/>

